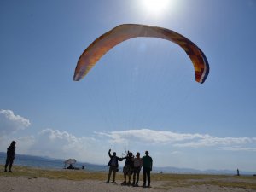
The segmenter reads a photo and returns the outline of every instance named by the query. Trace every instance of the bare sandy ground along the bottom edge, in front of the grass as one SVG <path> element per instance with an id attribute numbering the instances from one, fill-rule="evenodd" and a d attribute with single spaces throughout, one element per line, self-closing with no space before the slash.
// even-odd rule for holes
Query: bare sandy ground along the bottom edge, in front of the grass
<path id="1" fill-rule="evenodd" d="M 31 177 L 0 177 L 1 192 L 119 192 L 119 191 L 168 191 L 168 192 L 251 192 L 253 189 L 225 188 L 214 185 L 199 185 L 190 187 L 173 187 L 161 189 L 164 182 L 153 182 L 151 188 L 122 186 L 117 183 L 103 183 L 96 180 L 71 181 L 64 179 L 31 178 Z"/>

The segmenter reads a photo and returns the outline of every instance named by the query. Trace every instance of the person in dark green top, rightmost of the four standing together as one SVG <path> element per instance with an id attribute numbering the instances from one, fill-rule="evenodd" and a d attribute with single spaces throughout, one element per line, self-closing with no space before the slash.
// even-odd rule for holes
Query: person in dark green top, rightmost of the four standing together
<path id="1" fill-rule="evenodd" d="M 145 152 L 143 156 L 143 187 L 146 187 L 146 180 L 148 178 L 148 187 L 150 187 L 150 172 L 152 171 L 153 160 L 148 155 L 148 151 Z"/>

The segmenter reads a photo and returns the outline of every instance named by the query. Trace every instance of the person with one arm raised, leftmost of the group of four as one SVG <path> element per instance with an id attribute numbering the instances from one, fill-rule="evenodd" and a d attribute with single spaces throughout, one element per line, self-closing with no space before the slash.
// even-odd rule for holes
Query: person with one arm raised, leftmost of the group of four
<path id="1" fill-rule="evenodd" d="M 109 171 L 108 171 L 108 180 L 106 183 L 109 183 L 111 174 L 113 172 L 113 180 L 112 183 L 115 182 L 115 174 L 116 172 L 118 172 L 118 168 L 119 168 L 119 161 L 122 161 L 121 158 L 119 158 L 118 156 L 116 156 L 116 153 L 113 152 L 113 155 L 110 154 L 111 149 L 108 150 L 108 156 L 110 157 L 110 160 L 108 162 L 108 166 L 109 166 Z"/>

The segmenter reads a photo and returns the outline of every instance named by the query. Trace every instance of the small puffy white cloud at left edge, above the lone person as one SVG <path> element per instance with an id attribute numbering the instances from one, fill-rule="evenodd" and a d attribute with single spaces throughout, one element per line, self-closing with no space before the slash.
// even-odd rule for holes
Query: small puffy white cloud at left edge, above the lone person
<path id="1" fill-rule="evenodd" d="M 0 110 L 0 133 L 9 135 L 9 133 L 24 130 L 31 125 L 29 119 L 15 115 L 11 110 Z"/>

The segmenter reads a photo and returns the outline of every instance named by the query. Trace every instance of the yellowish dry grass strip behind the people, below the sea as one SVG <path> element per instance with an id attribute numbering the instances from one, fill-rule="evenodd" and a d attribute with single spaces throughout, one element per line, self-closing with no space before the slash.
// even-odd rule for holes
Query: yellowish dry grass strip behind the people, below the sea
<path id="1" fill-rule="evenodd" d="M 0 176 L 7 177 L 46 177 L 50 179 L 69 180 L 100 180 L 106 181 L 108 172 L 86 172 L 84 170 L 50 170 L 26 166 L 15 166 L 14 172 L 0 172 Z M 117 173 L 117 180 L 123 180 L 122 172 Z M 160 182 L 158 189 L 172 189 L 175 187 L 189 187 L 198 185 L 216 185 L 219 187 L 256 189 L 256 177 L 253 176 L 226 176 L 226 175 L 201 175 L 201 174 L 152 174 L 153 182 Z"/>

